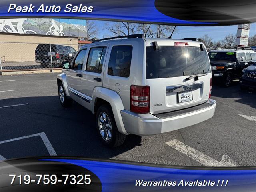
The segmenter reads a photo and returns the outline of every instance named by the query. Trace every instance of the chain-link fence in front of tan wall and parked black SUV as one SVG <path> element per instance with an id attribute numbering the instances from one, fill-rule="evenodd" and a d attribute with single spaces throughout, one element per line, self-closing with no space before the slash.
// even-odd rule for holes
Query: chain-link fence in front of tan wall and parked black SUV
<path id="1" fill-rule="evenodd" d="M 0 73 L 28 70 L 61 69 L 63 61 L 71 62 L 78 44 L 42 44 L 0 42 Z"/>

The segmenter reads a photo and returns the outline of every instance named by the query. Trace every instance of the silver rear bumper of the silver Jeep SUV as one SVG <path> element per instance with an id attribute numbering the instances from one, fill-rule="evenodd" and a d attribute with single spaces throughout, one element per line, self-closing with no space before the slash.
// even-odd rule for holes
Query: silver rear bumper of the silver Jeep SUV
<path id="1" fill-rule="evenodd" d="M 174 115 L 170 118 L 160 119 L 150 113 L 136 114 L 128 110 L 122 110 L 121 115 L 126 132 L 140 136 L 153 135 L 192 126 L 212 118 L 216 102 L 209 99 L 207 103 L 209 107 Z"/>

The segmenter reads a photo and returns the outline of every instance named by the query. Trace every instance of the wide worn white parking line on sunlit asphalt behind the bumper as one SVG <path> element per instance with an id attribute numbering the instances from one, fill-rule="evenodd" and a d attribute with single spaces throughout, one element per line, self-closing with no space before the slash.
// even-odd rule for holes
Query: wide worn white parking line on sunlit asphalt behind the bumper
<path id="1" fill-rule="evenodd" d="M 228 155 L 223 155 L 221 161 L 217 161 L 202 152 L 199 152 L 198 150 L 195 150 L 194 148 L 180 142 L 177 139 L 171 140 L 169 142 L 166 142 L 166 144 L 179 152 L 187 155 L 189 158 L 192 158 L 193 160 L 199 162 L 200 164 L 203 164 L 204 166 L 210 166 L 210 167 L 235 167 L 238 166 L 236 163 L 234 163 Z"/>

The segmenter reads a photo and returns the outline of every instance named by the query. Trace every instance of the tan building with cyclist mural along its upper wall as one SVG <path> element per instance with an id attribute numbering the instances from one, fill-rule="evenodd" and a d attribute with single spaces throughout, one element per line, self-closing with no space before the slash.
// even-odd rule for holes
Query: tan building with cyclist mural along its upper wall
<path id="1" fill-rule="evenodd" d="M 88 42 L 86 20 L 52 18 L 0 19 L 2 62 L 33 62 L 38 44 L 62 44 L 75 50 Z"/>

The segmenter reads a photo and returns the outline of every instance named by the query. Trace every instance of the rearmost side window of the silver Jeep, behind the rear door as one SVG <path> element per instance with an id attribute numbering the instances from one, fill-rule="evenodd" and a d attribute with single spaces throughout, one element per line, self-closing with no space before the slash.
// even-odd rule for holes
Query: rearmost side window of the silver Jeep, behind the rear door
<path id="1" fill-rule="evenodd" d="M 132 61 L 132 46 L 113 46 L 108 62 L 108 75 L 129 77 Z"/>

